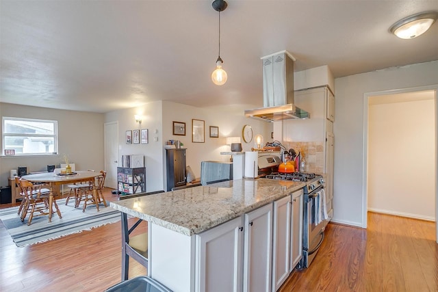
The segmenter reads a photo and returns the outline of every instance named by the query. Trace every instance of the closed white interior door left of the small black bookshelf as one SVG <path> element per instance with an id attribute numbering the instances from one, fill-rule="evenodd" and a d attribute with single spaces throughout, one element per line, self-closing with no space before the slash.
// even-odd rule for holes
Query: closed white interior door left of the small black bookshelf
<path id="1" fill-rule="evenodd" d="M 105 187 L 117 189 L 118 166 L 118 122 L 105 122 L 104 124 L 104 152 L 105 152 Z"/>

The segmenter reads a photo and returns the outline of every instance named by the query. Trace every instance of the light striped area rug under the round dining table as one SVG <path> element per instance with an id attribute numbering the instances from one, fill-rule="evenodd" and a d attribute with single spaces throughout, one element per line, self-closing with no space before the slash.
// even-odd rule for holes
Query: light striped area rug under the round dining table
<path id="1" fill-rule="evenodd" d="M 103 204 L 99 204 L 99 212 L 95 205 L 87 206 L 86 211 L 82 212 L 82 206 L 73 207 L 73 200 L 70 200 L 67 206 L 65 199 L 56 202 L 62 218 L 58 217 L 57 213 L 53 213 L 52 222 L 49 223 L 47 215 L 38 216 L 32 219 L 30 226 L 27 226 L 29 214 L 26 220 L 21 222 L 17 214 L 18 207 L 0 209 L 0 220 L 18 247 L 80 233 L 83 230 L 91 230 L 120 220 L 120 212 L 112 209 L 109 204 L 106 208 Z"/>

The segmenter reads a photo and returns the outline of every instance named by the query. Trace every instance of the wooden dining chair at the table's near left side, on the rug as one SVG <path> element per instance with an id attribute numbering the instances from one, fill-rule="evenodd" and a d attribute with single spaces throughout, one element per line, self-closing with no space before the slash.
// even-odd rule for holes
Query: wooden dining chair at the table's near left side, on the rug
<path id="1" fill-rule="evenodd" d="M 49 215 L 49 189 L 42 188 L 42 185 L 34 185 L 23 178 L 20 179 L 20 187 L 23 194 L 25 194 L 21 221 L 25 220 L 28 212 L 30 215 L 27 220 L 27 225 L 30 225 L 32 219 L 36 216 Z M 55 206 L 57 215 L 61 217 L 61 212 L 57 207 L 55 198 L 53 198 L 53 205 Z M 35 213 L 37 214 L 35 215 Z"/>

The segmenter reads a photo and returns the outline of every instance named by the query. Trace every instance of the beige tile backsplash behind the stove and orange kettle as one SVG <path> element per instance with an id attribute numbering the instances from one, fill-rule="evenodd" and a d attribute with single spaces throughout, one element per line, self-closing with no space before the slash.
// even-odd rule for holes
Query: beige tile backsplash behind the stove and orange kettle
<path id="1" fill-rule="evenodd" d="M 324 172 L 324 142 L 284 142 L 283 146 L 301 152 L 306 161 L 306 172 Z"/>

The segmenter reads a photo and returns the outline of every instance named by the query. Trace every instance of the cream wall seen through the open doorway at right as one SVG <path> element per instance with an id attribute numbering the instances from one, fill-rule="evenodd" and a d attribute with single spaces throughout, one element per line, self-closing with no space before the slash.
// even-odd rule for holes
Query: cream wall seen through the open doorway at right
<path id="1" fill-rule="evenodd" d="M 368 210 L 435 220 L 435 101 L 422 94 L 428 100 L 370 98 Z"/>

